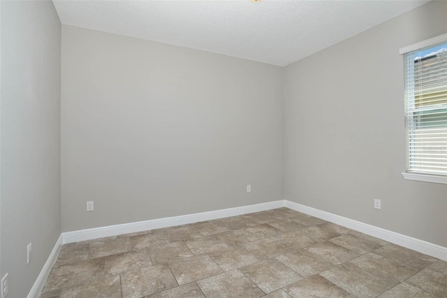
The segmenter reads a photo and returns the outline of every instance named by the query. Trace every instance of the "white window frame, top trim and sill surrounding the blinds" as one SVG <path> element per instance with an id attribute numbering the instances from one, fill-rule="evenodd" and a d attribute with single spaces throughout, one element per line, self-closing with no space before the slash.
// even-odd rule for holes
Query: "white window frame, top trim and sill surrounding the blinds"
<path id="1" fill-rule="evenodd" d="M 412 45 L 407 45 L 403 48 L 400 48 L 399 53 L 400 55 L 404 55 L 408 52 L 413 52 L 416 50 L 420 50 L 423 48 L 430 48 L 431 46 L 436 46 L 439 43 L 447 43 L 447 33 L 441 34 L 439 36 L 434 36 L 433 38 L 426 39 L 425 41 L 420 41 L 418 43 L 413 43 Z M 407 64 L 407 61 L 405 59 L 405 56 L 403 56 L 403 61 L 405 64 Z M 404 79 L 406 80 L 406 66 L 404 66 Z M 411 119 L 407 118 L 407 99 L 405 96 L 405 122 L 406 125 L 410 125 L 407 123 L 408 121 L 411 121 Z M 409 132 L 409 128 L 406 127 L 405 132 Z M 420 173 L 416 171 L 409 171 L 409 165 L 410 165 L 410 158 L 409 158 L 409 146 L 410 143 L 408 140 L 406 140 L 406 171 L 402 173 L 402 176 L 407 180 L 418 180 L 418 181 L 424 181 L 424 182 L 430 182 L 430 183 L 441 183 L 441 184 L 447 184 L 447 173 L 444 174 L 437 174 L 437 173 Z"/>

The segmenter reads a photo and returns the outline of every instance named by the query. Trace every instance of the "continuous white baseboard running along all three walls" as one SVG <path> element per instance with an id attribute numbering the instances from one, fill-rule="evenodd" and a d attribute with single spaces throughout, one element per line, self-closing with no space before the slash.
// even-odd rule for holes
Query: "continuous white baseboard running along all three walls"
<path id="1" fill-rule="evenodd" d="M 342 225 L 343 227 L 347 227 L 349 229 L 353 229 L 358 232 L 383 239 L 390 243 L 395 243 L 399 246 L 416 250 L 420 253 L 424 253 L 425 255 L 430 255 L 432 257 L 437 257 L 441 260 L 447 261 L 447 248 L 443 246 L 438 246 L 427 241 L 392 232 L 388 229 L 382 229 L 380 227 L 368 225 L 357 220 L 344 218 L 343 216 L 335 215 L 326 211 L 321 211 L 316 208 L 295 203 L 293 201 L 279 200 L 249 206 L 221 209 L 217 211 L 180 215 L 171 218 L 159 218 L 155 220 L 145 220 L 142 222 L 130 222 L 122 225 L 110 225 L 107 227 L 97 227 L 93 229 L 82 229 L 79 231 L 64 232 L 61 234 L 61 236 L 59 236 L 59 239 L 57 239 L 57 242 L 54 244 L 54 248 L 50 253 L 50 256 L 48 257 L 47 262 L 45 262 L 45 265 L 41 270 L 41 274 L 39 274 L 36 282 L 33 285 L 33 288 L 31 288 L 31 291 L 29 292 L 29 295 L 27 297 L 37 297 L 43 290 L 48 275 L 50 274 L 52 266 L 56 261 L 57 255 L 59 254 L 59 248 L 61 244 L 97 239 L 108 236 L 117 236 L 121 234 L 142 232 L 149 229 L 160 229 L 162 227 L 186 225 L 189 223 L 202 222 L 205 220 L 217 220 L 219 218 L 228 218 L 230 216 L 266 211 L 281 207 L 291 208 L 295 211 L 312 215 L 316 218 L 321 218 L 322 220 L 333 222 L 337 225 Z"/>

